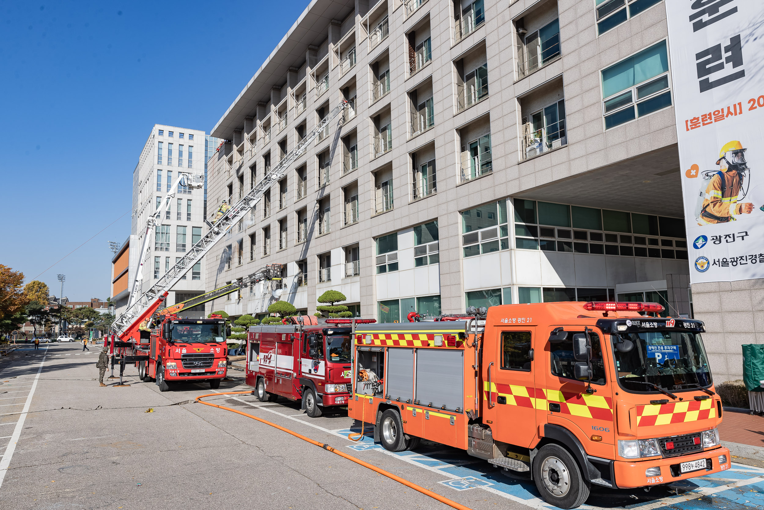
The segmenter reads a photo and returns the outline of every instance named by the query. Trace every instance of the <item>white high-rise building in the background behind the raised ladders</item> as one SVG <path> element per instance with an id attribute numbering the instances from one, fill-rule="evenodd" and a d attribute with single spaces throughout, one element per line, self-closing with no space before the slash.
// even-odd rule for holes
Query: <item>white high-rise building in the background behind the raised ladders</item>
<path id="1" fill-rule="evenodd" d="M 126 298 L 131 290 L 132 278 L 140 265 L 141 245 L 144 242 L 146 222 L 154 213 L 170 191 L 179 172 L 207 173 L 207 157 L 209 145 L 215 140 L 205 132 L 189 128 L 177 128 L 170 125 L 154 125 L 151 129 L 141 157 L 133 172 L 133 216 L 130 249 L 115 255 L 115 266 L 121 258 L 128 262 L 127 267 L 121 264 L 120 274 L 112 275 L 118 311 L 127 304 Z M 178 187 L 176 196 L 170 203 L 160 224 L 151 233 L 150 249 L 143 265 L 142 291 L 154 284 L 160 275 L 168 271 L 177 259 L 181 258 L 194 243 L 202 238 L 206 229 L 204 217 L 206 214 L 206 184 L 204 189 Z M 128 244 L 128 243 L 125 243 Z M 129 253 L 129 255 L 128 255 Z M 121 258 L 120 258 L 121 256 Z M 167 297 L 167 304 L 180 303 L 205 292 L 205 265 L 203 260 L 196 263 L 186 275 L 173 287 Z M 119 278 L 123 278 L 124 281 Z M 125 293 L 124 296 L 122 293 Z M 122 303 L 122 301 L 125 301 Z M 184 317 L 202 317 L 204 307 L 193 307 L 183 310 Z"/>

